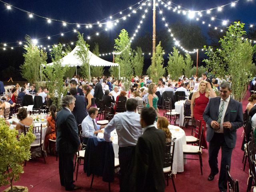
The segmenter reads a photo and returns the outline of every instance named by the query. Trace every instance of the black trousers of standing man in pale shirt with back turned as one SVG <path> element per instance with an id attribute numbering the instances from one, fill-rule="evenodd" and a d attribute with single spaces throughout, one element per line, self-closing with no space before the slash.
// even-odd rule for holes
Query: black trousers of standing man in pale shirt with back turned
<path id="1" fill-rule="evenodd" d="M 118 158 L 119 158 L 119 165 L 120 165 L 120 171 L 119 171 L 120 192 L 124 190 L 122 189 L 122 182 L 124 181 L 124 178 L 128 173 L 134 150 L 135 150 L 135 146 L 119 147 Z"/>

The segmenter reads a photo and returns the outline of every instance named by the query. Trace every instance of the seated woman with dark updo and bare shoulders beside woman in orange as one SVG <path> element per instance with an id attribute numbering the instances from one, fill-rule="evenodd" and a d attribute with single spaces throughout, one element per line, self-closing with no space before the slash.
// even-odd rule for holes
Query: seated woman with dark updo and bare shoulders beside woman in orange
<path id="1" fill-rule="evenodd" d="M 17 124 L 15 129 L 18 130 L 19 132 L 18 135 L 20 135 L 21 133 L 24 133 L 24 126 L 29 127 L 34 123 L 33 118 L 28 117 L 28 112 L 25 108 L 19 109 L 17 118 L 20 121 L 18 123 L 12 122 L 12 124 Z"/>

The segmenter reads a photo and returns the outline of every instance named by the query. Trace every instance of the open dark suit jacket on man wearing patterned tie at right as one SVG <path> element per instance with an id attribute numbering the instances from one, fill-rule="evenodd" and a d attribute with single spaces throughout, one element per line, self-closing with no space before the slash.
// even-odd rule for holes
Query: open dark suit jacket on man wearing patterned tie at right
<path id="1" fill-rule="evenodd" d="M 218 120 L 220 106 L 220 97 L 211 98 L 206 106 L 203 118 L 204 121 L 208 124 L 206 140 L 210 142 L 214 135 L 214 128 L 211 126 L 213 120 Z M 224 128 L 224 138 L 226 144 L 229 148 L 234 148 L 236 145 L 236 129 L 240 128 L 243 125 L 243 112 L 242 104 L 232 98 L 228 103 L 228 108 L 224 116 L 224 122 L 230 122 L 232 128 Z"/>

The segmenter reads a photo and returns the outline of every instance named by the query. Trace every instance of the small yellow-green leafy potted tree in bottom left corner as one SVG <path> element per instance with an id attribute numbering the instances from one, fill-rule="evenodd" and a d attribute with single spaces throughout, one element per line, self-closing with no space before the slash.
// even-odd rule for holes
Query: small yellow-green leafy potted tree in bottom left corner
<path id="1" fill-rule="evenodd" d="M 24 161 L 30 159 L 30 144 L 35 140 L 32 128 L 19 136 L 18 131 L 10 129 L 3 118 L 0 118 L 0 186 L 10 185 L 4 192 L 27 192 L 28 188 L 13 186 L 23 173 Z"/>

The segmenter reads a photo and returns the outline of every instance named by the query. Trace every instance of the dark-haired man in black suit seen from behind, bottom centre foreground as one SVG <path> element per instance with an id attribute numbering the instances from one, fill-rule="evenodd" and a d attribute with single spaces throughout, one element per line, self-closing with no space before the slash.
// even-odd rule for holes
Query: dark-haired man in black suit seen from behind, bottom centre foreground
<path id="1" fill-rule="evenodd" d="M 166 135 L 154 126 L 156 110 L 144 108 L 140 114 L 143 134 L 138 139 L 131 162 L 129 178 L 124 180 L 124 191 L 164 192 L 164 150 Z M 127 182 L 127 183 L 126 183 Z"/>

